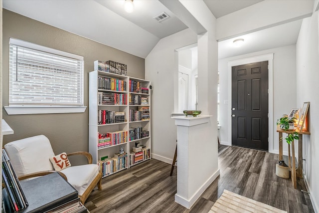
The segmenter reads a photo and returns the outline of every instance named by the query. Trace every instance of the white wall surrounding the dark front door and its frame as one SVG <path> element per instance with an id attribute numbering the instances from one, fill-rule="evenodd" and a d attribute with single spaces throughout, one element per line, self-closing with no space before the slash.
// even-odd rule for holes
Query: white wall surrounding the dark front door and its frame
<path id="1" fill-rule="evenodd" d="M 269 151 L 278 153 L 278 133 L 276 132 L 276 122 L 283 114 L 288 114 L 292 108 L 300 108 L 302 105 L 297 105 L 296 96 L 292 94 L 289 88 L 286 88 L 281 84 L 283 80 L 290 82 L 292 85 L 296 85 L 296 45 L 283 46 L 279 48 L 254 52 L 250 54 L 223 58 L 218 60 L 219 71 L 219 86 L 220 86 L 220 115 L 219 125 L 219 140 L 221 144 L 231 145 L 229 141 L 229 111 L 231 106 L 228 103 L 231 102 L 231 97 L 228 97 L 228 80 L 229 70 L 228 62 L 233 60 L 239 60 L 244 58 L 250 58 L 259 55 L 265 55 L 274 53 L 273 60 L 273 103 L 274 103 L 274 116 L 269 118 L 269 122 L 273 122 L 274 129 L 269 130 L 269 133 L 273 134 L 273 141 L 270 141 Z M 294 90 L 294 89 L 293 89 Z M 294 92 L 294 91 L 293 91 Z M 284 151 L 288 151 L 288 146 L 284 143 Z M 296 150 L 298 150 L 296 148 Z M 284 153 L 285 154 L 285 153 Z M 287 154 L 288 155 L 288 154 Z"/>

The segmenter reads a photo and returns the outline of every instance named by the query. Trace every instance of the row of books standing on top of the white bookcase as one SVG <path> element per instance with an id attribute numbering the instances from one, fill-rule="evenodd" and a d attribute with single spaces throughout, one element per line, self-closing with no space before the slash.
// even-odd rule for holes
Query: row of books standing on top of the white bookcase
<path id="1" fill-rule="evenodd" d="M 127 65 L 116 61 L 94 61 L 94 70 L 110 72 L 119 75 L 127 75 Z"/>

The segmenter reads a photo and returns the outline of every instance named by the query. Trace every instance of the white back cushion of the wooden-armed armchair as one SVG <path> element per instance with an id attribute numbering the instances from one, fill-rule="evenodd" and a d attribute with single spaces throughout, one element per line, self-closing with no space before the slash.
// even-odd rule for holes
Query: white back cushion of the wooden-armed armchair
<path id="1" fill-rule="evenodd" d="M 4 145 L 17 177 L 53 170 L 49 160 L 54 156 L 50 141 L 44 135 L 13 141 Z"/>

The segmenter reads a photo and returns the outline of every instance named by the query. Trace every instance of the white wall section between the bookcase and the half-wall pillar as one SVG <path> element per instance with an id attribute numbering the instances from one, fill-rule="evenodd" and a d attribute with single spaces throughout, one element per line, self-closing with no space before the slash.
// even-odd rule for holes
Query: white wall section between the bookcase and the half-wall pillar
<path id="1" fill-rule="evenodd" d="M 178 67 L 175 49 L 197 42 L 197 35 L 185 29 L 160 39 L 145 59 L 145 78 L 152 89 L 152 157 L 171 163 L 176 146 L 176 125 L 170 118 L 177 97 Z"/>

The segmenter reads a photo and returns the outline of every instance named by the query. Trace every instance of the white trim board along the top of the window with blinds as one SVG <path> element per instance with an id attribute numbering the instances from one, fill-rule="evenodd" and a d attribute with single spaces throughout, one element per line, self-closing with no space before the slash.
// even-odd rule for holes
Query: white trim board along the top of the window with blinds
<path id="1" fill-rule="evenodd" d="M 27 48 L 31 48 L 31 49 L 36 49 L 36 50 L 40 50 L 40 51 L 43 51 L 43 52 L 49 52 L 49 53 L 53 53 L 53 54 L 56 54 L 56 55 L 62 55 L 62 56 L 66 56 L 66 57 L 69 57 L 69 58 L 74 58 L 74 59 L 78 59 L 78 60 L 82 60 L 82 61 L 84 60 L 83 56 L 80 56 L 80 55 L 75 55 L 75 54 L 72 54 L 72 53 L 69 53 L 69 52 L 64 52 L 64 51 L 60 51 L 60 50 L 57 50 L 57 49 L 52 49 L 52 48 L 49 48 L 49 47 L 46 47 L 46 46 L 41 46 L 41 45 L 38 45 L 38 44 L 35 44 L 35 43 L 30 43 L 30 42 L 19 40 L 19 39 L 16 39 L 16 38 L 9 38 L 9 44 L 14 44 L 14 45 L 17 45 L 17 46 L 23 46 L 23 47 L 27 47 Z"/>

